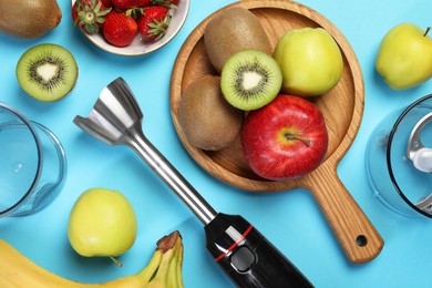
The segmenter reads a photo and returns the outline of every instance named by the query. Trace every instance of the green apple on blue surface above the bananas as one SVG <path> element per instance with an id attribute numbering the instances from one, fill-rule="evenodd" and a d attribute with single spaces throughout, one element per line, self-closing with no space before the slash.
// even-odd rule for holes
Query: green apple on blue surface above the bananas
<path id="1" fill-rule="evenodd" d="M 135 212 L 116 191 L 91 188 L 72 207 L 68 236 L 73 249 L 85 257 L 120 256 L 136 238 Z"/>

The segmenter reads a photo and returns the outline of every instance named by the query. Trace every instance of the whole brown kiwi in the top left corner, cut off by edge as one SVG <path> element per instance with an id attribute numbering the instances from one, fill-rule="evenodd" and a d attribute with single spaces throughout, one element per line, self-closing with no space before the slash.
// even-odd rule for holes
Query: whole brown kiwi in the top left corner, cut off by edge
<path id="1" fill-rule="evenodd" d="M 0 0 L 0 31 L 4 34 L 39 38 L 58 27 L 61 19 L 55 0 Z"/>

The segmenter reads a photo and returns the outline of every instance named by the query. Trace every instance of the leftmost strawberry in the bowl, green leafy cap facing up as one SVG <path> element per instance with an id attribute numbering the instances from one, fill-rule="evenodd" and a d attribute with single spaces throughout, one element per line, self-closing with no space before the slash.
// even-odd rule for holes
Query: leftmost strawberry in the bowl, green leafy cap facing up
<path id="1" fill-rule="evenodd" d="M 101 0 L 76 0 L 72 7 L 73 25 L 80 27 L 89 34 L 97 33 L 110 10 Z"/>

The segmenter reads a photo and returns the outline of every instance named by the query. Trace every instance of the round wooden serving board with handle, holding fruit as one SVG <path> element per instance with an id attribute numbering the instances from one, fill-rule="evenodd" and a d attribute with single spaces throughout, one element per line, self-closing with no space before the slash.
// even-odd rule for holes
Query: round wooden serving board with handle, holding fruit
<path id="1" fill-rule="evenodd" d="M 261 21 L 271 43 L 287 31 L 302 27 L 321 27 L 337 41 L 343 56 L 341 81 L 329 93 L 313 99 L 325 115 L 329 147 L 325 162 L 313 172 L 292 181 L 271 182 L 260 178 L 247 165 L 239 140 L 223 151 L 206 152 L 187 142 L 178 121 L 178 104 L 191 82 L 206 74 L 217 74 L 204 45 L 204 30 L 209 20 L 225 9 L 239 6 L 249 9 Z M 171 79 L 171 112 L 174 126 L 191 156 L 209 174 L 235 187 L 250 192 L 281 192 L 297 187 L 309 189 L 347 257 L 353 263 L 373 259 L 383 240 L 343 186 L 337 174 L 339 161 L 353 142 L 364 105 L 361 69 L 351 45 L 341 32 L 317 11 L 292 1 L 247 0 L 227 6 L 206 18 L 191 33 L 178 52 Z"/>

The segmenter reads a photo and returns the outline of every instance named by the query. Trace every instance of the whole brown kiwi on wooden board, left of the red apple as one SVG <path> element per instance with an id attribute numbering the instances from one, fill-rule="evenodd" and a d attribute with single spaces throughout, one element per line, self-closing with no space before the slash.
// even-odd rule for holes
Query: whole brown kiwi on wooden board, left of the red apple
<path id="1" fill-rule="evenodd" d="M 179 102 L 179 124 L 195 147 L 218 151 L 238 136 L 244 112 L 226 102 L 220 78 L 205 75 L 191 83 Z"/>

